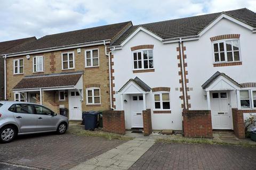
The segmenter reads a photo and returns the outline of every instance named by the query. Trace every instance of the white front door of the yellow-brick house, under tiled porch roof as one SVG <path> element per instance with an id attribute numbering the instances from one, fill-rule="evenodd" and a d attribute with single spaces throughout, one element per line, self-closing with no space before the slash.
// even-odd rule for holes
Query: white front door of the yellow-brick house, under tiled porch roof
<path id="1" fill-rule="evenodd" d="M 69 120 L 82 120 L 81 97 L 76 90 L 68 91 Z"/>

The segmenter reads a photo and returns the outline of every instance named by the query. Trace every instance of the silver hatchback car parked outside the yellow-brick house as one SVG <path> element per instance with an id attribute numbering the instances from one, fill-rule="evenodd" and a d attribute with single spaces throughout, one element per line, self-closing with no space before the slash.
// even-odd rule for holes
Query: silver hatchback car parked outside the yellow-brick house
<path id="1" fill-rule="evenodd" d="M 68 129 L 68 118 L 42 105 L 19 101 L 0 101 L 0 142 L 12 141 L 17 135 Z"/>

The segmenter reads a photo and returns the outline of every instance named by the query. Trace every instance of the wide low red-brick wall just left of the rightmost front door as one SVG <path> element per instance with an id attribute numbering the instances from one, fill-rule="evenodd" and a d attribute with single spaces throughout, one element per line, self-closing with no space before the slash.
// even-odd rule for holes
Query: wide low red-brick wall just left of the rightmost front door
<path id="1" fill-rule="evenodd" d="M 213 138 L 211 111 L 183 109 L 184 137 Z"/>

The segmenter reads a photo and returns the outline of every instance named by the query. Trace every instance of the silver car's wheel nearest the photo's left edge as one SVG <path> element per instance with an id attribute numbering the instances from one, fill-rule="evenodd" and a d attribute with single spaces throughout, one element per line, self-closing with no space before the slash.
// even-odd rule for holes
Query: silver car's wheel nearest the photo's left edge
<path id="1" fill-rule="evenodd" d="M 12 126 L 5 126 L 0 130 L 0 142 L 8 143 L 16 137 L 16 130 Z"/>

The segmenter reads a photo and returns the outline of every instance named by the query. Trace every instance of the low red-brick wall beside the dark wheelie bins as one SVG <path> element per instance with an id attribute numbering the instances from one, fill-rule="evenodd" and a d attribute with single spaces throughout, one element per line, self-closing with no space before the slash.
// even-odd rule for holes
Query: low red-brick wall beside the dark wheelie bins
<path id="1" fill-rule="evenodd" d="M 124 111 L 103 111 L 103 131 L 125 134 Z"/>

